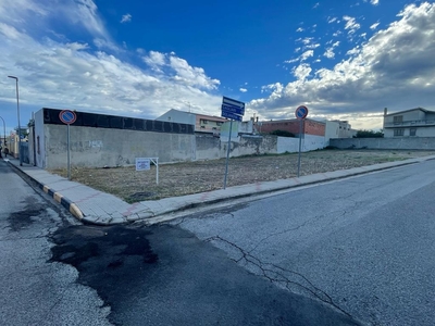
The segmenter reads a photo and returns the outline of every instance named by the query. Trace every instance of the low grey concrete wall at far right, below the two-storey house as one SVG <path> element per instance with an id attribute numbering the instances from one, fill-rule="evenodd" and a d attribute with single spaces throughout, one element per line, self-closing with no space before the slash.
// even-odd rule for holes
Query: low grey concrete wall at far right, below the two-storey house
<path id="1" fill-rule="evenodd" d="M 435 137 L 341 138 L 331 139 L 330 145 L 339 149 L 435 150 Z"/>

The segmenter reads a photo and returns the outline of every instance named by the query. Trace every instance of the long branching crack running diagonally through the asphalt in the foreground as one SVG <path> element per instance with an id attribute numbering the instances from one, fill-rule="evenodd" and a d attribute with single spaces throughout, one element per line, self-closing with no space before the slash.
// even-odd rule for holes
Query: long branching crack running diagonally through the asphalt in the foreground
<path id="1" fill-rule="evenodd" d="M 345 315 L 352 317 L 348 312 L 346 312 L 337 303 L 335 303 L 333 301 L 333 299 L 326 292 L 324 292 L 320 288 L 315 287 L 302 274 L 295 272 L 295 271 L 283 268 L 273 263 L 262 262 L 258 258 L 250 254 L 250 252 L 245 251 L 241 247 L 222 238 L 221 236 L 213 236 L 213 237 L 204 239 L 204 241 L 206 242 L 222 241 L 222 242 L 235 248 L 237 251 L 240 252 L 241 256 L 239 259 L 232 259 L 232 258 L 229 258 L 229 259 L 232 261 L 234 261 L 236 264 L 243 264 L 245 262 L 248 266 L 251 265 L 250 267 L 257 267 L 256 269 L 259 271 L 259 274 L 261 276 L 263 276 L 264 278 L 266 278 L 269 281 L 271 281 L 273 284 L 275 284 L 275 283 L 284 284 L 285 288 L 287 288 L 287 290 L 289 290 L 291 292 L 293 292 L 291 285 L 295 285 L 295 286 L 308 291 L 309 293 L 314 296 L 320 301 L 327 303 L 327 304 L 334 306 L 335 309 L 337 309 L 338 311 L 340 311 L 341 313 L 344 313 Z M 251 268 L 251 271 L 252 271 L 252 268 Z M 288 275 L 285 275 L 285 274 L 288 274 Z M 291 279 L 291 277 L 294 279 Z M 295 279 L 295 277 L 299 278 L 299 280 Z"/>

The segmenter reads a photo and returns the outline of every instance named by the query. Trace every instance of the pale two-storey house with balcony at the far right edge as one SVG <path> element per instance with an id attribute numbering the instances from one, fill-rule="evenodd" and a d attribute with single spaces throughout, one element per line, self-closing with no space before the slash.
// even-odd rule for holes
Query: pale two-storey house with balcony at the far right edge
<path id="1" fill-rule="evenodd" d="M 384 138 L 435 137 L 435 111 L 415 108 L 395 113 L 384 110 Z"/>

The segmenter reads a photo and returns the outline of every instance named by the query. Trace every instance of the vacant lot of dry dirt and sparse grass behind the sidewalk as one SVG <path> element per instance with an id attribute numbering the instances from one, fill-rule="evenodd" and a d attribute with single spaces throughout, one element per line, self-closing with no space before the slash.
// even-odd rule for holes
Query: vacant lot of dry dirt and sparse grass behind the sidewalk
<path id="1" fill-rule="evenodd" d="M 301 154 L 300 175 L 345 170 L 376 163 L 433 155 L 434 151 L 322 150 Z M 50 171 L 66 177 L 66 170 Z M 227 187 L 297 176 L 298 154 L 229 159 Z M 156 200 L 223 188 L 225 160 L 160 164 L 136 172 L 116 168 L 72 167 L 72 180 L 113 193 L 127 202 Z"/>

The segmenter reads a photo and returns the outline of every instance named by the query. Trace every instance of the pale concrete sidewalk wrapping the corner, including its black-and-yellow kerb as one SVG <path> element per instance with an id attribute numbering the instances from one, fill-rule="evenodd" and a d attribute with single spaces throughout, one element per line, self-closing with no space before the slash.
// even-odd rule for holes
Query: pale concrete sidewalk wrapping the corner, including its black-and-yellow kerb
<path id="1" fill-rule="evenodd" d="M 23 163 L 23 166 L 20 166 L 20 162 L 16 159 L 4 159 L 4 161 L 7 161 L 18 172 L 26 174 L 28 177 L 35 180 L 45 192 L 49 193 L 57 202 L 62 204 L 71 212 L 71 214 L 82 222 L 98 225 L 111 225 L 128 223 L 138 220 L 147 220 L 158 215 L 173 213 L 203 204 L 229 201 L 271 191 L 345 178 L 434 159 L 435 155 L 430 155 L 405 161 L 307 175 L 299 178 L 229 187 L 225 190 L 221 189 L 183 197 L 141 201 L 133 204 L 126 203 L 113 195 L 109 195 L 92 189 L 88 186 L 71 181 L 59 175 L 50 174 L 49 172 L 39 167 L 35 167 L 25 163 Z"/>

